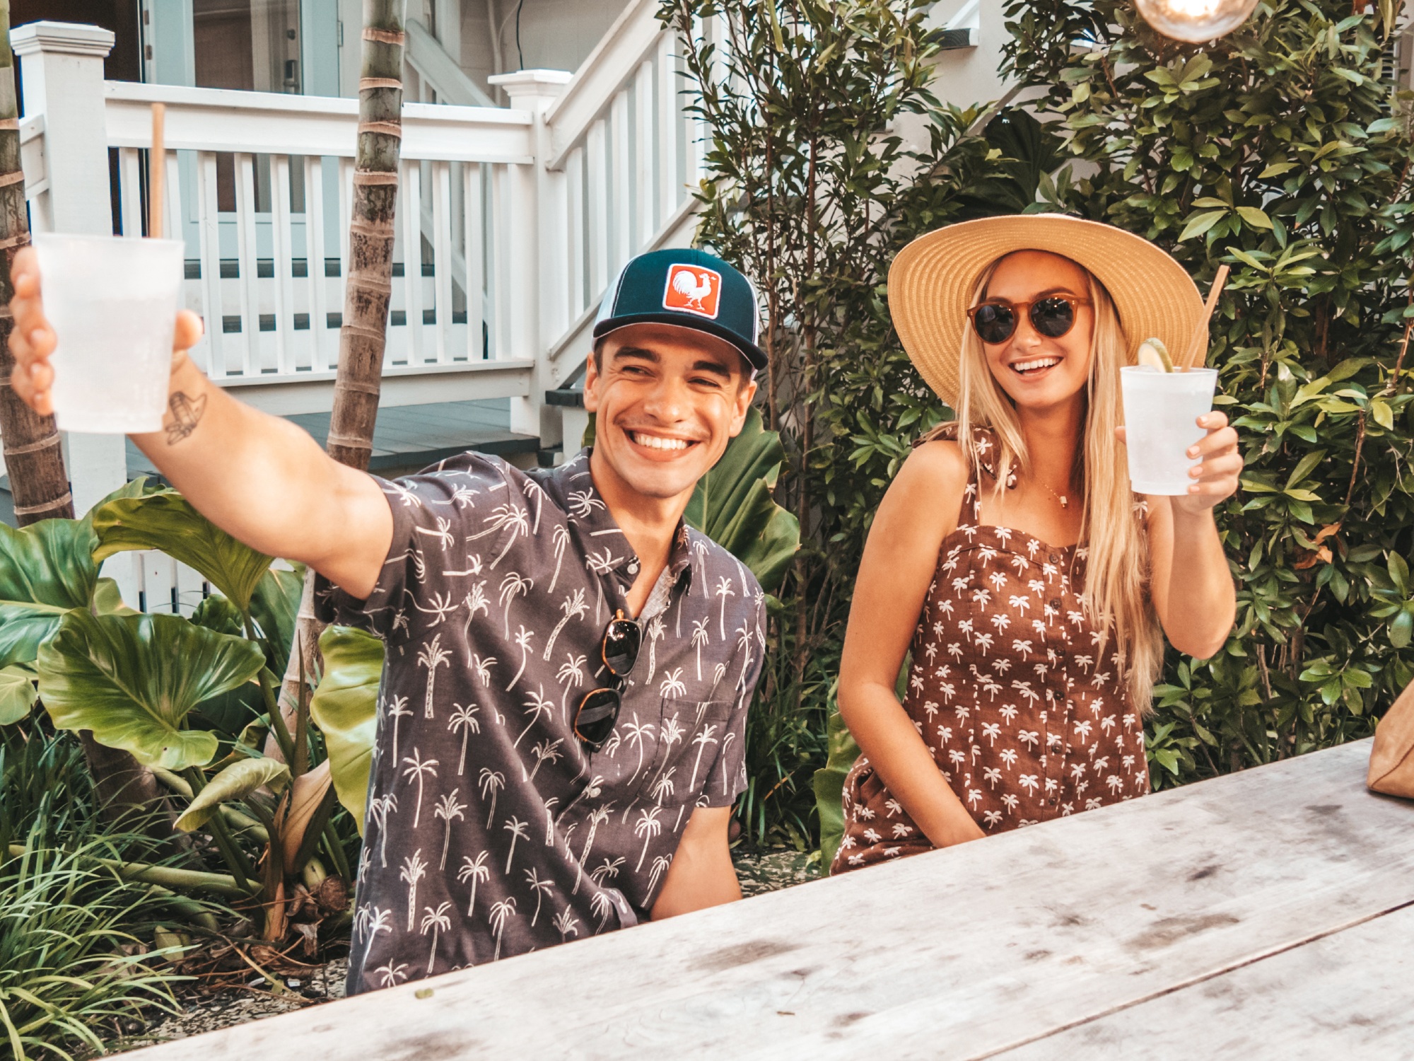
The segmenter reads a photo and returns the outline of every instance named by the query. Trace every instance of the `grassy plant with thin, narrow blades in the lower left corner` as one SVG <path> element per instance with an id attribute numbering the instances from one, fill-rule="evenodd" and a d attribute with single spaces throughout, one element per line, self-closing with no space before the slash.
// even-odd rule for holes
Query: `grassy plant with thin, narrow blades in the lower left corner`
<path id="1" fill-rule="evenodd" d="M 0 730 L 0 1055 L 90 1055 L 174 1009 L 163 946 L 218 908 L 123 871 L 157 847 L 98 815 L 72 734 Z"/>

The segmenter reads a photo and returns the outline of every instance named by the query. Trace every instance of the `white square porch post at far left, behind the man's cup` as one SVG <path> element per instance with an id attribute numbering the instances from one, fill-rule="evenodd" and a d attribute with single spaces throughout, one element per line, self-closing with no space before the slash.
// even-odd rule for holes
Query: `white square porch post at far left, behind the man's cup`
<path id="1" fill-rule="evenodd" d="M 112 235 L 107 130 L 103 122 L 103 58 L 113 34 L 98 25 L 30 23 L 10 34 L 20 58 L 25 116 L 44 115 L 49 218 L 55 232 Z M 74 511 L 127 482 L 122 436 L 65 439 Z"/>

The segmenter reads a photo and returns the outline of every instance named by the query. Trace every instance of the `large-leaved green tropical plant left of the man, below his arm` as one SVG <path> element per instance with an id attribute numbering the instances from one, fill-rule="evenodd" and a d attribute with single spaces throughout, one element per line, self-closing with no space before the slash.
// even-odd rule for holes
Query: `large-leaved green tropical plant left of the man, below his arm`
<path id="1" fill-rule="evenodd" d="M 98 566 L 130 549 L 191 564 L 221 596 L 191 618 L 123 608 Z M 143 879 L 256 901 L 267 939 L 284 935 L 287 903 L 321 845 L 349 880 L 329 767 L 310 727 L 317 676 L 301 686 L 294 733 L 276 709 L 274 668 L 286 659 L 300 586 L 300 572 L 274 570 L 175 491 L 141 481 L 81 521 L 0 528 L 0 662 L 16 686 L 7 717 L 33 703 L 34 686 L 18 688 L 33 673 L 49 723 L 160 777 L 184 802 L 177 829 L 206 833 L 228 874 L 143 866 Z M 259 750 L 267 731 L 279 758 Z M 318 866 L 315 883 L 324 876 Z M 327 912 L 339 912 L 346 890 L 331 884 L 321 895 L 335 907 Z"/>

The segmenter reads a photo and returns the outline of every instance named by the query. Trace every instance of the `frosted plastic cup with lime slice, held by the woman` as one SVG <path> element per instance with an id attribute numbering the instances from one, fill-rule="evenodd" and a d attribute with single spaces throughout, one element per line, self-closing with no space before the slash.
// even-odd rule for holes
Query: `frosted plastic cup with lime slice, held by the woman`
<path id="1" fill-rule="evenodd" d="M 1198 417 L 1213 407 L 1217 369 L 1159 372 L 1128 365 L 1120 369 L 1124 396 L 1124 444 L 1130 454 L 1130 487 L 1138 494 L 1188 494 L 1188 470 L 1198 461 L 1189 446 L 1206 431 Z"/>

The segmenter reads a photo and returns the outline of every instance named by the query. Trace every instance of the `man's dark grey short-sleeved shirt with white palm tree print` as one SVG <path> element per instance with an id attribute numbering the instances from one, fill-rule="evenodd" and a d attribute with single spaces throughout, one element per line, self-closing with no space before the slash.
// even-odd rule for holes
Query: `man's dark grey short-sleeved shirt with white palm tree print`
<path id="1" fill-rule="evenodd" d="M 590 755 L 573 713 L 609 683 L 602 632 L 639 560 L 588 450 L 530 472 L 465 453 L 379 482 L 393 546 L 378 586 L 318 596 L 387 652 L 349 992 L 645 920 L 693 808 L 745 787 L 756 580 L 679 526 L 618 724 Z"/>

